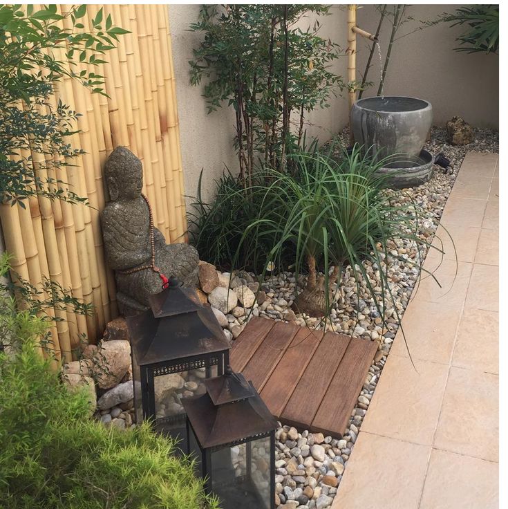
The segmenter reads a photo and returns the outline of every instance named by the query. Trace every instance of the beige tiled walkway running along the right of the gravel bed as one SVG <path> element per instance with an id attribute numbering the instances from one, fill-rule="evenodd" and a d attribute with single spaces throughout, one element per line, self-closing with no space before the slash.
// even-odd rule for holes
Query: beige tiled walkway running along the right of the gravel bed
<path id="1" fill-rule="evenodd" d="M 332 509 L 498 508 L 498 178 L 467 154 Z"/>

